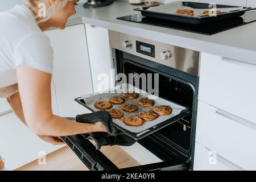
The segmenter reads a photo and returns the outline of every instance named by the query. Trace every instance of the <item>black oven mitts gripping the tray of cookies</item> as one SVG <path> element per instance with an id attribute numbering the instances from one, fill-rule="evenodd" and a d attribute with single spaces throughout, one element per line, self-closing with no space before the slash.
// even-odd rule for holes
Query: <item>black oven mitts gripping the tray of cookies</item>
<path id="1" fill-rule="evenodd" d="M 92 139 L 96 142 L 96 149 L 100 150 L 101 146 L 131 146 L 136 140 L 124 134 L 113 126 L 111 115 L 107 111 L 96 111 L 89 114 L 81 114 L 76 116 L 76 122 L 80 123 L 97 123 L 101 122 L 105 125 L 107 133 L 94 132 L 82 134 L 85 139 Z"/>

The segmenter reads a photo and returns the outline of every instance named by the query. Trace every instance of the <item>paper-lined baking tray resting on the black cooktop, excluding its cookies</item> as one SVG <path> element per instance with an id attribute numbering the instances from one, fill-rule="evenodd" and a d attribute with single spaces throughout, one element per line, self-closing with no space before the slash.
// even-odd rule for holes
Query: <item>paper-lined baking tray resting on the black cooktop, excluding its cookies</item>
<path id="1" fill-rule="evenodd" d="M 221 19 L 236 18 L 245 14 L 245 11 L 255 10 L 251 7 L 240 6 L 228 6 L 228 5 L 216 5 L 217 10 L 222 13 L 216 16 L 201 15 L 204 10 L 209 9 L 209 3 L 197 3 L 197 2 L 182 2 L 176 1 L 167 3 L 165 5 L 153 6 L 153 7 L 139 7 L 134 9 L 135 11 L 141 11 L 143 16 L 166 19 L 175 22 L 188 23 L 188 24 L 203 24 L 215 22 Z M 176 14 L 177 9 L 191 9 L 195 11 L 194 16 L 179 15 Z"/>

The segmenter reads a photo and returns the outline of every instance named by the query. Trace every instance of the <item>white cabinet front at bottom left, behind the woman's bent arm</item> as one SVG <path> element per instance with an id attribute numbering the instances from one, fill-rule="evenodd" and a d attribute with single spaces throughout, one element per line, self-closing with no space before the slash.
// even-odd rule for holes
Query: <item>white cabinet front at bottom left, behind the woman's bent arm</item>
<path id="1" fill-rule="evenodd" d="M 52 96 L 53 113 L 58 114 L 55 96 Z M 49 154 L 62 146 L 53 146 L 33 134 L 12 112 L 0 115 L 0 155 L 5 160 L 5 170 L 14 170 Z M 47 159 L 46 159 L 47 162 Z"/>

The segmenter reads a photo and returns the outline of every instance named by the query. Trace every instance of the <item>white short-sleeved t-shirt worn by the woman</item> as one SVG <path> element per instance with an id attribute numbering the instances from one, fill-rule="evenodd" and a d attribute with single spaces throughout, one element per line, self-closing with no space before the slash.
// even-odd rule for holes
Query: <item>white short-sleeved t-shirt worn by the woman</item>
<path id="1" fill-rule="evenodd" d="M 24 5 L 0 13 L 0 88 L 17 83 L 19 65 L 47 73 L 53 70 L 49 38 Z"/>

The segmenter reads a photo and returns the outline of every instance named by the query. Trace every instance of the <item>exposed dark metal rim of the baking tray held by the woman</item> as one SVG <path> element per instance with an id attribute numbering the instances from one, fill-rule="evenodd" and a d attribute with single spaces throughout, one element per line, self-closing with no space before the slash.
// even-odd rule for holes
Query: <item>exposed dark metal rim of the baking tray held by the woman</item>
<path id="1" fill-rule="evenodd" d="M 87 109 L 89 109 L 90 111 L 94 112 L 96 110 L 92 109 L 91 106 L 86 105 L 84 99 L 82 97 L 79 98 L 75 98 L 75 101 L 77 103 L 79 103 L 80 105 L 86 107 Z M 175 117 L 172 117 L 170 119 L 167 119 L 166 121 L 163 121 L 161 123 L 159 123 L 158 125 L 152 126 L 149 129 L 142 131 L 141 133 L 133 133 L 129 130 L 124 129 L 123 127 L 117 125 L 116 123 L 113 122 L 114 127 L 117 127 L 119 130 L 123 131 L 123 133 L 125 133 L 126 135 L 129 135 L 130 137 L 132 137 L 135 140 L 140 140 L 144 137 L 147 137 L 148 135 L 155 133 L 156 131 L 163 129 L 164 127 L 171 125 L 172 123 L 187 117 L 188 115 L 191 115 L 191 110 L 189 110 L 188 108 L 185 108 L 183 111 L 180 112 L 180 114 L 175 115 Z M 122 122 L 122 121 L 120 121 Z"/>

